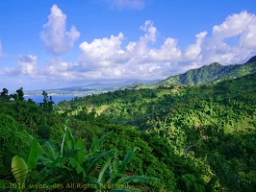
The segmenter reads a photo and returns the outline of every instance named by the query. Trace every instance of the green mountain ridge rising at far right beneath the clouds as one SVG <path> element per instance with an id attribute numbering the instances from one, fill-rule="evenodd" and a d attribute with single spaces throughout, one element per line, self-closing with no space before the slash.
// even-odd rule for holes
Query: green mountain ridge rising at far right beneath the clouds
<path id="1" fill-rule="evenodd" d="M 256 72 L 256 56 L 244 64 L 221 65 L 214 62 L 184 74 L 169 76 L 154 86 L 171 84 L 211 84 L 223 79 L 234 79 Z"/>

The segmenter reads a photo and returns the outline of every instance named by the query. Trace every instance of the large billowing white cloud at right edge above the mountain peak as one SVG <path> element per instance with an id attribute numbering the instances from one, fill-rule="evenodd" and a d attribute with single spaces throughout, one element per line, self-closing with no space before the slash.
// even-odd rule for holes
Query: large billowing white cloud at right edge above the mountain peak
<path id="1" fill-rule="evenodd" d="M 243 63 L 256 54 L 256 15 L 240 12 L 229 15 L 223 23 L 213 27 L 201 45 L 200 61 L 208 64 Z M 199 59 L 197 59 L 199 60 Z"/>

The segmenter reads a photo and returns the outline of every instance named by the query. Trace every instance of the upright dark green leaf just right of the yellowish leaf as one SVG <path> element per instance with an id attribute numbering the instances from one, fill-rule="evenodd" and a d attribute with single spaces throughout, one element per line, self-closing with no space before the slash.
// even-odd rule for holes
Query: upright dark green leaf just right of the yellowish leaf
<path id="1" fill-rule="evenodd" d="M 30 147 L 27 165 L 29 169 L 36 169 L 38 164 L 38 139 L 33 139 Z"/>

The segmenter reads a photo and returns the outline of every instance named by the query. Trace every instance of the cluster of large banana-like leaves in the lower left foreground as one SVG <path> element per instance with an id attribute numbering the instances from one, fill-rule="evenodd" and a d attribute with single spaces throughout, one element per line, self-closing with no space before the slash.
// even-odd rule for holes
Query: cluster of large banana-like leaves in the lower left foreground
<path id="1" fill-rule="evenodd" d="M 78 139 L 75 142 L 72 133 L 65 127 L 60 153 L 56 152 L 57 148 L 46 142 L 46 147 L 50 148 L 51 155 L 47 155 L 42 150 L 37 139 L 26 133 L 28 140 L 32 139 L 28 160 L 25 162 L 22 157 L 13 156 L 13 177 L 18 186 L 33 186 L 33 184 L 41 183 L 42 180 L 47 184 L 56 180 L 65 183 L 71 177 L 74 182 L 84 182 L 100 191 L 117 190 L 117 186 L 123 186 L 123 190 L 130 191 L 128 185 L 130 182 L 150 183 L 151 181 L 159 181 L 156 178 L 145 176 L 124 175 L 126 166 L 137 148 L 130 151 L 122 160 L 119 159 L 118 150 L 116 149 L 102 152 L 99 145 L 110 133 L 105 134 L 100 139 L 94 139 L 90 150 L 86 150 L 83 140 Z M 40 164 L 42 166 L 38 167 L 37 165 Z M 28 175 L 29 172 L 30 175 Z M 50 175 L 54 173 L 58 173 L 58 176 L 52 180 L 53 178 Z M 69 185 L 69 183 L 67 182 L 66 185 Z"/>

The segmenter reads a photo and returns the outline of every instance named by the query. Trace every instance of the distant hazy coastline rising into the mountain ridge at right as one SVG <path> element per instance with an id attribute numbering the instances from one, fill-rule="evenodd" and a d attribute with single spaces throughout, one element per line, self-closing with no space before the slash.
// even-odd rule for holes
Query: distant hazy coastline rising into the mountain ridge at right
<path id="1" fill-rule="evenodd" d="M 214 62 L 184 74 L 169 76 L 166 80 L 129 80 L 121 83 L 92 83 L 64 88 L 47 89 L 49 95 L 90 95 L 124 88 L 155 88 L 161 85 L 211 84 L 222 79 L 234 79 L 256 73 L 256 56 L 244 64 L 221 65 Z M 42 90 L 28 90 L 27 95 L 41 95 Z"/>

